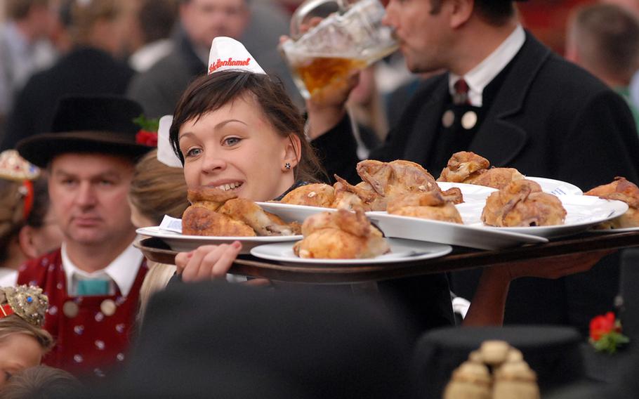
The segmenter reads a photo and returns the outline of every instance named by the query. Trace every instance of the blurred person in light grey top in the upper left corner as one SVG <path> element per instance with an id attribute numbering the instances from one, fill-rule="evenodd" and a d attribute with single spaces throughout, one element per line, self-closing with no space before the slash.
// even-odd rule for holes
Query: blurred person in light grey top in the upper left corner
<path id="1" fill-rule="evenodd" d="M 49 0 L 4 0 L 0 25 L 0 138 L 15 96 L 27 79 L 50 67 L 56 51 L 48 41 L 55 16 Z"/>

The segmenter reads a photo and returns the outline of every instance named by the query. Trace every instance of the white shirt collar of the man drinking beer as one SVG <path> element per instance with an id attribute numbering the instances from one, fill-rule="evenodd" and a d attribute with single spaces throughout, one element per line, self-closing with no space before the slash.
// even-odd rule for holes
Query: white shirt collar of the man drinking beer
<path id="1" fill-rule="evenodd" d="M 526 41 L 524 28 L 522 28 L 522 25 L 517 25 L 513 33 L 511 33 L 495 51 L 490 53 L 490 55 L 470 70 L 470 72 L 463 75 L 463 79 L 466 80 L 468 84 L 468 99 L 471 105 L 475 105 L 475 107 L 482 106 L 484 89 L 492 79 L 515 58 L 515 55 L 517 55 L 520 48 L 524 45 L 524 41 Z M 450 73 L 448 84 L 451 94 L 455 92 L 453 85 L 460 78 L 458 74 Z"/>

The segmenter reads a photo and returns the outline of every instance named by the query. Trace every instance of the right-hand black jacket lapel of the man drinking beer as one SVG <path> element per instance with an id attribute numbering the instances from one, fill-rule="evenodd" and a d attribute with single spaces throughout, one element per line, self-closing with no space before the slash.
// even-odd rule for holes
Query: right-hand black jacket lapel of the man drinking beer
<path id="1" fill-rule="evenodd" d="M 499 88 L 485 121 L 470 145 L 470 150 L 490 160 L 494 166 L 506 166 L 525 147 L 529 132 L 511 122 L 517 115 L 541 66 L 551 55 L 534 37 L 526 41 Z"/>

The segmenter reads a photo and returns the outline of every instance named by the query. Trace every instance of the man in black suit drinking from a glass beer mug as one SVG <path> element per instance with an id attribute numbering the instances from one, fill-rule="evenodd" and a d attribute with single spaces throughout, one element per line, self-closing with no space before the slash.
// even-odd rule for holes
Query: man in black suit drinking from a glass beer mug
<path id="1" fill-rule="evenodd" d="M 437 177 L 454 152 L 468 150 L 494 166 L 584 190 L 614 176 L 639 183 L 639 140 L 623 98 L 525 32 L 513 1 L 390 0 L 385 22 L 412 72 L 448 72 L 424 82 L 371 159 L 408 159 Z M 329 176 L 356 180 L 347 92 L 311 101 L 308 126 Z M 613 306 L 619 270 L 611 263 L 553 281 L 513 282 L 506 322 L 586 329 Z M 478 275 L 455 275 L 453 291 L 472 297 Z"/>

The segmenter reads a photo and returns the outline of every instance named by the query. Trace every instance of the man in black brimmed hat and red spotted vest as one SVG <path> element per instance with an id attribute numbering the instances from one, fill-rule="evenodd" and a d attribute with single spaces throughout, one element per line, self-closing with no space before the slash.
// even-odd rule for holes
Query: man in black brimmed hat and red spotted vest
<path id="1" fill-rule="evenodd" d="M 19 284 L 38 285 L 50 307 L 44 327 L 56 341 L 45 362 L 74 374 L 104 374 L 124 360 L 146 273 L 133 247 L 126 197 L 135 160 L 140 105 L 118 97 L 60 101 L 52 133 L 18 143 L 48 171 L 51 207 L 62 247 L 20 269 Z"/>

